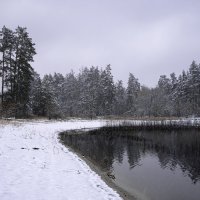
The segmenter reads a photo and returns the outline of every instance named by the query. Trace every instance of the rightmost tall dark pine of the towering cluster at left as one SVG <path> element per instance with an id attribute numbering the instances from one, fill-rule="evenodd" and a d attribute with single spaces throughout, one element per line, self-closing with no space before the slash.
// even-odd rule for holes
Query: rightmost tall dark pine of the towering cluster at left
<path id="1" fill-rule="evenodd" d="M 33 56 L 36 54 L 34 43 L 29 37 L 26 28 L 18 27 L 16 29 L 16 53 L 14 66 L 14 91 L 15 103 L 18 105 L 16 115 L 24 115 L 29 100 L 29 91 L 33 79 L 33 68 L 30 62 L 33 62 Z"/>

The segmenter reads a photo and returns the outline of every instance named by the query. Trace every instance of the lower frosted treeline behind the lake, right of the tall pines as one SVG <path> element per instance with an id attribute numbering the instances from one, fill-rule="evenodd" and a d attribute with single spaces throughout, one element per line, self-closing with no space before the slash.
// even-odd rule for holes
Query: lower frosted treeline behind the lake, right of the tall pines
<path id="1" fill-rule="evenodd" d="M 129 74 L 125 87 L 113 80 L 111 66 L 84 68 L 78 74 L 35 74 L 31 102 L 34 115 L 52 117 L 181 117 L 200 115 L 200 65 L 176 77 L 160 76 L 155 88 L 141 86 Z"/>

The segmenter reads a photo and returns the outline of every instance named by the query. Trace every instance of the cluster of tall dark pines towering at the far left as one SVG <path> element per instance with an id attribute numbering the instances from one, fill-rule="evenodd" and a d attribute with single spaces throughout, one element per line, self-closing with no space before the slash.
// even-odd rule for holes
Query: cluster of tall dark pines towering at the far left
<path id="1" fill-rule="evenodd" d="M 26 115 L 29 91 L 33 78 L 31 62 L 35 55 L 32 39 L 26 28 L 18 27 L 15 32 L 5 26 L 0 31 L 0 77 L 1 104 L 5 111 L 11 108 L 12 115 Z"/>

